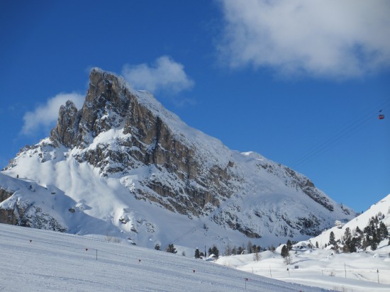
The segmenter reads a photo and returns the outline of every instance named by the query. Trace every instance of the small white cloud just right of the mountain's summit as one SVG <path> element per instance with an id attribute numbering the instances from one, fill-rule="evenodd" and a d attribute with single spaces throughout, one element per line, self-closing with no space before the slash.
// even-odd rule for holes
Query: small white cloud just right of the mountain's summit
<path id="1" fill-rule="evenodd" d="M 152 93 L 170 91 L 177 94 L 194 86 L 194 82 L 184 72 L 184 66 L 167 56 L 157 58 L 152 66 L 125 64 L 122 75 L 131 86 Z"/>

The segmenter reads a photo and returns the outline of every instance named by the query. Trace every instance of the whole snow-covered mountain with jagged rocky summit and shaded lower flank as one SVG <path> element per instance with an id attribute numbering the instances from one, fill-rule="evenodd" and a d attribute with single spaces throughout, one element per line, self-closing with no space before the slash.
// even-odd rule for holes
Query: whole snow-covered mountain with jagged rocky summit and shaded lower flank
<path id="1" fill-rule="evenodd" d="M 235 152 L 189 127 L 151 94 L 91 69 L 84 105 L 0 176 L 0 222 L 138 245 L 262 246 L 305 240 L 355 212 L 302 174 Z"/>

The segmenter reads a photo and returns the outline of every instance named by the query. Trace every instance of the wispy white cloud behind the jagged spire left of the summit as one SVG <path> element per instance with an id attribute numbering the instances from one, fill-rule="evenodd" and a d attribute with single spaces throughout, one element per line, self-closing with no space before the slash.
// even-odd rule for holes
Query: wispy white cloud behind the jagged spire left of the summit
<path id="1" fill-rule="evenodd" d="M 34 111 L 28 111 L 23 116 L 23 128 L 21 134 L 33 135 L 40 130 L 50 130 L 58 118 L 58 111 L 61 105 L 65 105 L 68 100 L 74 102 L 77 108 L 81 108 L 84 102 L 85 96 L 81 94 L 57 94 L 56 96 L 48 99 L 45 104 L 38 106 Z"/>

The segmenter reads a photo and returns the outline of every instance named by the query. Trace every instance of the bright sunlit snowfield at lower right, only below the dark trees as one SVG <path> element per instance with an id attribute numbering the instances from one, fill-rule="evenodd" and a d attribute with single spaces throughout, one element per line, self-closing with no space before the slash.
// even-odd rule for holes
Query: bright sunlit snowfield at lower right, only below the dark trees
<path id="1" fill-rule="evenodd" d="M 291 264 L 287 266 L 280 256 L 280 250 L 279 247 L 276 252 L 261 252 L 258 262 L 254 254 L 242 254 L 220 257 L 216 263 L 247 271 L 250 276 L 261 275 L 335 291 L 390 291 L 390 246 L 387 245 L 387 240 L 382 242 L 375 252 L 353 254 L 294 247 L 290 252 Z M 295 269 L 295 266 L 298 266 L 298 269 Z"/>

